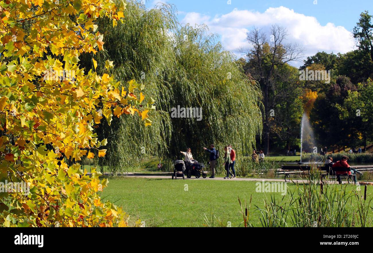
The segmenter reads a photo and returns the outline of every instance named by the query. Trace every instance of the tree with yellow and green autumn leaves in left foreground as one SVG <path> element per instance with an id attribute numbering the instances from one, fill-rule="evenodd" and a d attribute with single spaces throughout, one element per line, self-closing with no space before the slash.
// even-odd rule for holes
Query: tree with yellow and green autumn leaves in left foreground
<path id="1" fill-rule="evenodd" d="M 120 207 L 100 199 L 107 179 L 78 164 L 93 150 L 105 156 L 107 141 L 93 131 L 103 117 L 110 124 L 113 116 L 131 114 L 151 124 L 154 100 L 143 102 L 144 85 L 117 82 L 109 60 L 102 75 L 94 59 L 94 69 L 79 68 L 82 53 L 104 49 L 95 20 L 123 23 L 125 6 L 0 1 L 0 226 L 127 225 Z"/>

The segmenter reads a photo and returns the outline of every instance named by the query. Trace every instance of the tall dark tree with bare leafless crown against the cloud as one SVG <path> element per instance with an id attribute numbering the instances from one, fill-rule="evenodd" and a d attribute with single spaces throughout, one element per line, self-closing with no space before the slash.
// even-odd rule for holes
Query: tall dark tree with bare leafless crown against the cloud
<path id="1" fill-rule="evenodd" d="M 247 41 L 250 49 L 240 49 L 245 53 L 251 75 L 259 82 L 263 91 L 263 137 L 265 151 L 269 153 L 270 121 L 269 113 L 273 109 L 273 102 L 269 101 L 269 93 L 275 89 L 276 78 L 273 78 L 275 67 L 284 65 L 291 61 L 301 60 L 304 56 L 304 49 L 298 44 L 287 43 L 287 30 L 279 25 L 272 25 L 269 32 L 269 39 L 262 29 L 255 28 L 247 33 Z M 278 74 L 278 73 L 277 73 Z"/>

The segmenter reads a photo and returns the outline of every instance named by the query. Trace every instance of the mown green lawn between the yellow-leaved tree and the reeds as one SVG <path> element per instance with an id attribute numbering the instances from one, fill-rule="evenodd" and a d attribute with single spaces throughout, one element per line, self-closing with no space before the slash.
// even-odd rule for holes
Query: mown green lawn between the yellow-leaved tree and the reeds
<path id="1" fill-rule="evenodd" d="M 242 215 L 237 196 L 241 202 L 248 202 L 251 194 L 249 221 L 260 227 L 260 212 L 256 205 L 263 208 L 263 201 L 270 199 L 271 194 L 256 193 L 256 182 L 250 181 L 145 178 L 113 178 L 109 181 L 101 197 L 122 206 L 131 215 L 130 221 L 141 219 L 147 227 L 203 227 L 205 215 L 209 222 L 216 217 L 214 225 L 217 225 L 216 219 L 220 219 L 223 224 L 230 221 L 232 227 L 239 227 L 242 226 Z M 188 191 L 185 191 L 185 184 Z M 296 186 L 289 183 L 288 187 L 294 191 Z M 352 191 L 355 186 L 347 187 Z M 276 201 L 282 200 L 280 193 L 274 194 Z M 288 195 L 284 200 L 286 198 Z"/>

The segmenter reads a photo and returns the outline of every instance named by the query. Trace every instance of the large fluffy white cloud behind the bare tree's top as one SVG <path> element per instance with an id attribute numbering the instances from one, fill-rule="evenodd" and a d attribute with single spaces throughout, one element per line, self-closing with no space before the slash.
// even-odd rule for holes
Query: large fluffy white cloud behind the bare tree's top
<path id="1" fill-rule="evenodd" d="M 346 53 L 353 50 L 355 44 L 351 32 L 343 26 L 332 23 L 321 25 L 313 16 L 305 16 L 283 6 L 268 8 L 263 13 L 234 9 L 214 17 L 189 12 L 182 23 L 208 25 L 211 32 L 220 35 L 224 48 L 229 51 L 249 47 L 245 38 L 253 26 L 266 30 L 273 24 L 285 27 L 289 34 L 288 41 L 303 46 L 305 56 L 314 55 L 317 51 Z M 301 65 L 300 62 L 292 64 Z"/>

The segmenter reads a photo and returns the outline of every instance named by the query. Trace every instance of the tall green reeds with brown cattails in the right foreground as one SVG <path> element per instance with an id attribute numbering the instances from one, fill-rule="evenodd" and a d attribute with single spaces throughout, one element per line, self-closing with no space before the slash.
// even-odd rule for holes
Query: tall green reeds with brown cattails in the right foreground
<path id="1" fill-rule="evenodd" d="M 370 195 L 370 194 L 369 194 Z M 263 227 L 366 227 L 372 224 L 368 213 L 372 211 L 372 197 L 357 186 L 348 190 L 347 185 L 323 184 L 316 165 L 311 166 L 310 176 L 296 190 L 287 191 L 289 197 L 280 204 L 271 196 L 264 200 L 260 210 Z M 352 202 L 353 199 L 356 202 Z M 291 217 L 291 221 L 289 218 Z"/>

